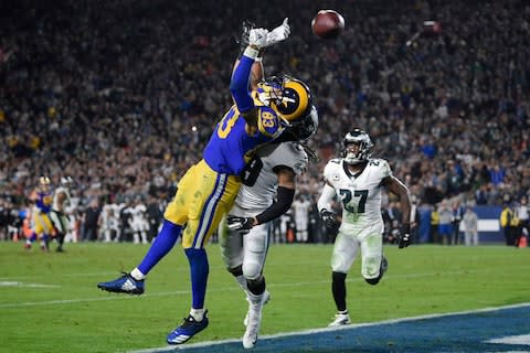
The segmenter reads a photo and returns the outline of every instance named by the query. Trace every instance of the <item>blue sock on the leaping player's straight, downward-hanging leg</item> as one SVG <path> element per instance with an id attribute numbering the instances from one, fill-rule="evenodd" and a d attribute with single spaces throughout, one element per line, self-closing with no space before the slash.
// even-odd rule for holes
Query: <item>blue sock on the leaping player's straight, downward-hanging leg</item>
<path id="1" fill-rule="evenodd" d="M 191 274 L 191 293 L 193 297 L 191 308 L 204 308 L 204 297 L 206 296 L 208 272 L 210 267 L 208 265 L 208 256 L 205 249 L 186 249 L 186 256 L 190 263 Z"/>

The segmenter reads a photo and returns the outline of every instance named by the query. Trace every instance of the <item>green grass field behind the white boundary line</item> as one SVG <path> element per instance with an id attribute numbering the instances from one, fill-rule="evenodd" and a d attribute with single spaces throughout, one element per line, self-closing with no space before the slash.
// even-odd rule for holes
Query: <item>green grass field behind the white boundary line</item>
<path id="1" fill-rule="evenodd" d="M 53 246 L 54 247 L 54 246 Z M 166 335 L 188 314 L 188 263 L 177 246 L 146 281 L 140 297 L 102 292 L 139 263 L 147 245 L 67 244 L 65 254 L 0 243 L 0 352 L 125 352 L 166 345 Z M 210 327 L 190 341 L 243 335 L 246 301 L 208 246 Z M 274 245 L 265 276 L 272 300 L 263 334 L 322 328 L 335 313 L 330 245 Z M 367 285 L 359 260 L 348 277 L 356 323 L 530 301 L 530 249 L 506 246 L 386 246 L 389 271 Z"/>

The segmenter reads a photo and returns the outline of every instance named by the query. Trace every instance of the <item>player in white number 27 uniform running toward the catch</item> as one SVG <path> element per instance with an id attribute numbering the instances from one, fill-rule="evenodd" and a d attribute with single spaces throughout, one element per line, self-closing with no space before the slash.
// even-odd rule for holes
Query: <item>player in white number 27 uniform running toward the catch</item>
<path id="1" fill-rule="evenodd" d="M 362 258 L 361 275 L 368 284 L 377 285 L 386 270 L 382 236 L 382 186 L 400 197 L 403 227 L 399 247 L 404 248 L 411 243 L 409 189 L 392 175 L 384 159 L 370 158 L 372 146 L 367 132 L 354 129 L 342 140 L 342 158 L 330 160 L 324 169 L 326 184 L 317 205 L 327 226 L 332 227 L 337 222 L 331 211 L 331 201 L 336 195 L 342 206 L 342 223 L 331 257 L 331 290 L 338 312 L 330 327 L 351 322 L 346 304 L 346 276 L 359 250 Z"/>

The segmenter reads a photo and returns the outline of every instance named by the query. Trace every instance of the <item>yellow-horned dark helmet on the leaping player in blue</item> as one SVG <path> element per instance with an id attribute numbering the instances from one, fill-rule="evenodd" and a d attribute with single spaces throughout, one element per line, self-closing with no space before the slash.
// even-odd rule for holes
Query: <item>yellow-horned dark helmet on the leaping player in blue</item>
<path id="1" fill-rule="evenodd" d="M 305 117 L 311 109 L 312 97 L 309 87 L 289 76 L 271 77 L 258 83 L 257 97 L 278 113 L 287 126 Z"/>

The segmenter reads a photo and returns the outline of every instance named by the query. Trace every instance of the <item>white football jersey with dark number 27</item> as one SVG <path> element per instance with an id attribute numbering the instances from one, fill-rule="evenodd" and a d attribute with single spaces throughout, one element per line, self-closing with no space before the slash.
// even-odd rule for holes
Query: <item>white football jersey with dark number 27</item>
<path id="1" fill-rule="evenodd" d="M 335 189 L 342 205 L 341 227 L 362 228 L 383 222 L 381 182 L 391 175 L 390 165 L 383 159 L 370 159 L 364 170 L 356 175 L 347 171 L 342 158 L 328 162 L 324 178 Z"/>

